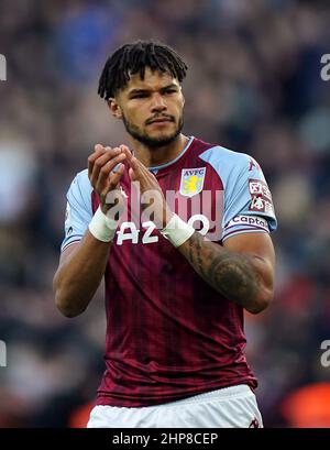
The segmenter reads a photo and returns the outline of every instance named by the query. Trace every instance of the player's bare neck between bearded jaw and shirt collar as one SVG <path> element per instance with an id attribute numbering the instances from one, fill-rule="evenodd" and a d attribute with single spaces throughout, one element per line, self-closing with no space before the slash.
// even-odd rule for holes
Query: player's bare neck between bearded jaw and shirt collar
<path id="1" fill-rule="evenodd" d="M 136 158 L 146 167 L 154 167 L 175 160 L 187 145 L 188 138 L 180 133 L 170 144 L 152 149 L 133 138 L 131 143 Z"/>

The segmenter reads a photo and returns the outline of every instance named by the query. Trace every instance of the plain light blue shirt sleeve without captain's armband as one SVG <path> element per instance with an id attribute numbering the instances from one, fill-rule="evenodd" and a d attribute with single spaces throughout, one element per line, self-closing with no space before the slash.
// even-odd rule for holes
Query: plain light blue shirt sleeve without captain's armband
<path id="1" fill-rule="evenodd" d="M 61 251 L 76 241 L 80 241 L 92 218 L 91 209 L 92 187 L 87 171 L 82 171 L 73 180 L 66 198 L 65 238 Z"/>

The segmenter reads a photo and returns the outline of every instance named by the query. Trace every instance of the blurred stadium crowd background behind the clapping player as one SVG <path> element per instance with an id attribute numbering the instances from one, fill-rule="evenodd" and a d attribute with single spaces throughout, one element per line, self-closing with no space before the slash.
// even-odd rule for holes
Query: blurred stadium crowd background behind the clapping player
<path id="1" fill-rule="evenodd" d="M 330 339 L 326 3 L 1 0 L 0 339 L 8 366 L 0 367 L 0 427 L 75 426 L 80 405 L 95 397 L 102 290 L 73 320 L 55 309 L 51 286 L 72 178 L 95 143 L 125 142 L 97 97 L 100 69 L 117 46 L 139 37 L 173 45 L 190 67 L 186 133 L 252 154 L 273 191 L 276 297 L 266 312 L 246 317 L 265 425 L 330 426 L 330 367 L 320 362 Z"/>

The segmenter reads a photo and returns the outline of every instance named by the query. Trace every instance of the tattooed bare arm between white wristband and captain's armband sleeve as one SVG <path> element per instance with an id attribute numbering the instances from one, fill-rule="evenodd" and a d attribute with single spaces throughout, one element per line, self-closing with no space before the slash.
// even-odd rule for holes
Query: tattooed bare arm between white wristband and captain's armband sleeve
<path id="1" fill-rule="evenodd" d="M 275 252 L 267 233 L 237 234 L 221 246 L 196 231 L 177 250 L 209 285 L 249 312 L 261 312 L 272 300 Z"/>

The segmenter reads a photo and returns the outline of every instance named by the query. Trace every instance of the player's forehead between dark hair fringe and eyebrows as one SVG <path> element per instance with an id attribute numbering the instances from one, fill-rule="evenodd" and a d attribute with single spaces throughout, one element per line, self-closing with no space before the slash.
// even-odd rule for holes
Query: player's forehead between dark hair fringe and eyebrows
<path id="1" fill-rule="evenodd" d="M 178 80 L 168 72 L 151 70 L 148 67 L 145 69 L 144 79 L 140 77 L 140 74 L 131 75 L 128 85 L 124 87 L 124 91 L 132 89 L 157 89 L 168 85 L 179 86 Z"/>

